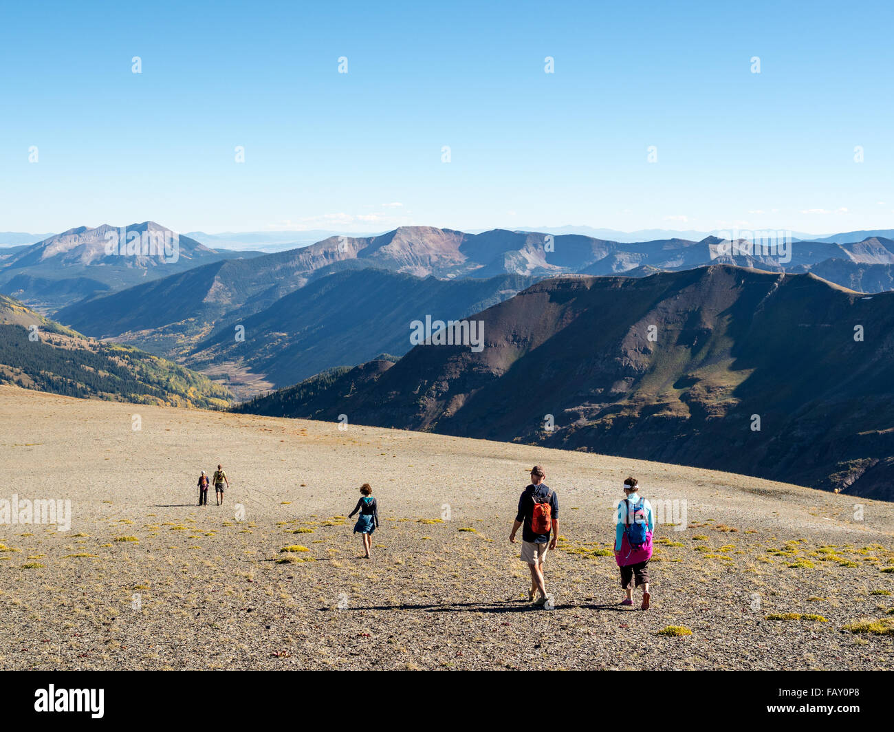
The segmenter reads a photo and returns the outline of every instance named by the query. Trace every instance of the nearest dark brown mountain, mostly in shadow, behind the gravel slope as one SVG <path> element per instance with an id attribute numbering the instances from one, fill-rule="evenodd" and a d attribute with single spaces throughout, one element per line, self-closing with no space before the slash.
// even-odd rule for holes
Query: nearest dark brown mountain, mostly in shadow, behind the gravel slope
<path id="1" fill-rule="evenodd" d="M 892 293 L 714 265 L 554 277 L 471 319 L 480 353 L 417 345 L 236 409 L 894 498 Z"/>

